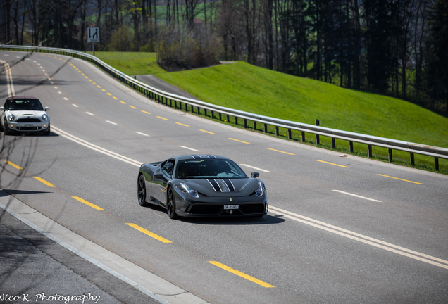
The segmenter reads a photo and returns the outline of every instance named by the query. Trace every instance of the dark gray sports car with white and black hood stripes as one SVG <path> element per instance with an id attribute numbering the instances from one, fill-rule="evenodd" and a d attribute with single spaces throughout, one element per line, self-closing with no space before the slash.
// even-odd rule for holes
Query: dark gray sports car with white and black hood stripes
<path id="1" fill-rule="evenodd" d="M 256 216 L 268 213 L 258 172 L 247 177 L 224 156 L 175 156 L 143 164 L 137 179 L 139 204 L 166 208 L 168 216 Z"/>

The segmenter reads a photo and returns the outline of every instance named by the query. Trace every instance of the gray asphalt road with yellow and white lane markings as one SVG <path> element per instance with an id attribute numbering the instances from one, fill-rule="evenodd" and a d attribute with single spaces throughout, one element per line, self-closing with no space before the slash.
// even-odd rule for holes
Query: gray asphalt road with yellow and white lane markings
<path id="1" fill-rule="evenodd" d="M 448 302 L 446 176 L 197 118 L 78 59 L 28 59 L 12 67 L 15 94 L 51 108 L 52 132 L 1 138 L 1 188 L 75 234 L 209 303 Z M 170 220 L 140 207 L 139 163 L 189 153 L 260 172 L 269 214 Z"/>

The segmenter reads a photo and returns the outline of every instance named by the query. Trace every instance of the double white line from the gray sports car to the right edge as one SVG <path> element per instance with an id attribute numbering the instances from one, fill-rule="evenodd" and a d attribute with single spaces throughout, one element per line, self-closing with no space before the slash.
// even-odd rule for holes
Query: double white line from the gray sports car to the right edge
<path id="1" fill-rule="evenodd" d="M 415 260 L 419 260 L 421 262 L 426 262 L 428 264 L 435 265 L 437 267 L 442 267 L 442 268 L 445 268 L 448 270 L 448 261 L 447 260 L 442 260 L 440 258 L 435 258 L 431 255 L 426 255 L 425 253 L 419 253 L 417 251 L 412 251 L 410 249 L 407 249 L 407 248 L 404 248 L 401 246 L 397 246 L 392 243 L 387 243 L 385 241 L 373 239 L 370 236 L 365 236 L 363 234 L 351 232 L 350 230 L 336 227 L 331 224 L 327 224 L 325 222 L 313 220 L 310 217 L 304 217 L 303 215 L 298 215 L 297 213 L 292 213 L 287 210 L 282 210 L 280 208 L 274 207 L 273 205 L 269 205 L 269 212 L 275 213 L 278 215 L 283 215 L 284 217 L 287 217 L 290 220 L 295 220 L 295 221 L 301 222 L 303 224 L 308 224 L 308 225 L 316 227 L 318 229 L 323 229 L 327 232 L 332 232 L 334 234 L 338 234 L 340 236 L 347 237 L 354 241 L 360 241 L 361 243 L 366 243 L 366 244 L 374 246 L 376 248 L 382 248 L 386 251 L 397 253 L 399 255 L 404 255 L 408 258 L 413 258 Z"/>

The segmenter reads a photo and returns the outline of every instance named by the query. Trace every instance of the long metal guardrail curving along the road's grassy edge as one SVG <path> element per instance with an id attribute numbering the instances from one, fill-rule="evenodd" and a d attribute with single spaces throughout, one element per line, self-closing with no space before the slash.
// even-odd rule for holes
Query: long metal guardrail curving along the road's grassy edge
<path id="1" fill-rule="evenodd" d="M 107 72 L 112 77 L 116 78 L 120 82 L 123 82 L 127 86 L 139 91 L 140 94 L 147 96 L 149 99 L 154 99 L 158 103 L 163 103 L 166 106 L 182 109 L 182 103 L 185 104 L 185 110 L 188 111 L 188 107 L 191 112 L 194 113 L 194 108 L 197 108 L 197 113 L 199 110 L 204 110 L 205 115 L 207 111 L 211 111 L 211 118 L 215 118 L 215 113 L 218 114 L 218 119 L 222 120 L 222 115 L 227 116 L 227 121 L 230 122 L 230 116 L 235 119 L 235 124 L 238 124 L 238 120 L 242 119 L 244 121 L 244 128 L 247 128 L 247 121 L 254 123 L 254 129 L 256 129 L 256 124 L 260 123 L 264 126 L 264 132 L 267 132 L 268 125 L 275 127 L 275 134 L 279 134 L 279 128 L 287 129 L 288 138 L 291 139 L 291 131 L 296 130 L 301 132 L 301 141 L 304 142 L 306 138 L 306 133 L 311 133 L 316 135 L 316 144 L 319 144 L 319 137 L 330 137 L 332 141 L 332 148 L 336 147 L 335 139 L 340 139 L 344 141 L 349 141 L 349 151 L 353 152 L 353 143 L 366 144 L 368 146 L 368 157 L 372 157 L 372 146 L 382 147 L 388 149 L 389 161 L 392 162 L 392 151 L 404 151 L 409 153 L 411 165 L 415 165 L 414 154 L 419 154 L 423 156 L 430 156 L 434 158 L 435 170 L 439 170 L 439 158 L 448 159 L 448 148 L 440 148 L 437 146 L 427 146 L 423 144 L 414 144 L 406 141 L 398 141 L 394 139 L 386 139 L 383 137 L 375 137 L 366 134 L 359 134 L 354 132 L 342 131 L 339 129 L 330 129 L 327 127 L 320 127 L 316 125 L 307 125 L 300 122 L 293 122 L 290 120 L 281 120 L 278 118 L 270 118 L 268 116 L 257 115 L 253 113 L 244 112 L 241 110 L 234 110 L 232 108 L 225 108 L 223 106 L 216 106 L 211 103 L 205 103 L 204 101 L 199 101 L 196 99 L 189 99 L 187 97 L 178 96 L 176 94 L 170 94 L 166 91 L 161 91 L 154 87 L 149 86 L 139 80 L 125 75 L 123 72 L 112 68 L 107 63 L 99 60 L 97 57 L 83 53 L 80 51 L 73 51 L 69 49 L 56 49 L 38 46 L 0 46 L 0 49 L 8 51 L 38 51 L 44 53 L 57 53 L 66 56 L 72 56 L 75 58 L 80 58 L 85 61 L 90 61 L 98 65 L 102 70 Z M 179 103 L 179 104 L 178 104 Z"/>

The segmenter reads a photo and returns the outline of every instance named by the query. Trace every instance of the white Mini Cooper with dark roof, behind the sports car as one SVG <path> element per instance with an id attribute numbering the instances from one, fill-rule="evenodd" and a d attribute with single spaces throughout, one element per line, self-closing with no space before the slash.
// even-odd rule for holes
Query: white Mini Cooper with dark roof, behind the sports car
<path id="1" fill-rule="evenodd" d="M 50 118 L 39 99 L 32 96 L 12 96 L 0 107 L 0 129 L 4 134 L 17 132 L 42 132 L 50 134 Z"/>

